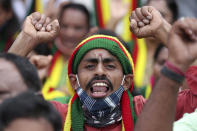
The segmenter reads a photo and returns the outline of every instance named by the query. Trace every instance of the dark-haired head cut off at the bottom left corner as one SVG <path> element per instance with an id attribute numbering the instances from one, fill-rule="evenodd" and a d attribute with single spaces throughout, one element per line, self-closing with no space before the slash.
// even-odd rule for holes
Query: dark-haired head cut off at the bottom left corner
<path id="1" fill-rule="evenodd" d="M 0 104 L 1 131 L 62 131 L 55 108 L 33 92 L 24 92 Z"/>

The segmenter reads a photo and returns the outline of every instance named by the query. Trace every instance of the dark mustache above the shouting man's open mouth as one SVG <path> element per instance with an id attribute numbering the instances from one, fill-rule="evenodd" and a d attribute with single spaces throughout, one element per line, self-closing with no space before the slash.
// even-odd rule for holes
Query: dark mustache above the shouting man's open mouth
<path id="1" fill-rule="evenodd" d="M 87 86 L 86 86 L 85 89 L 88 90 L 88 89 L 91 87 L 91 83 L 92 83 L 93 81 L 95 81 L 95 80 L 105 80 L 105 81 L 107 81 L 107 83 L 109 84 L 109 88 L 111 88 L 111 90 L 114 89 L 114 88 L 113 88 L 113 85 L 112 85 L 112 82 L 111 82 L 106 76 L 104 76 L 104 75 L 93 77 L 93 78 L 88 82 L 88 84 L 87 84 Z"/>

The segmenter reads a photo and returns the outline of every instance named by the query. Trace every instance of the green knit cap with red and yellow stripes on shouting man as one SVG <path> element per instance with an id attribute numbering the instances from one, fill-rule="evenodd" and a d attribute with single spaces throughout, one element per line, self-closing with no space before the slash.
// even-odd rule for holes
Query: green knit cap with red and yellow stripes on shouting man
<path id="1" fill-rule="evenodd" d="M 123 73 L 134 74 L 134 65 L 131 55 L 128 53 L 123 44 L 115 37 L 107 35 L 93 35 L 83 40 L 74 50 L 69 63 L 68 63 L 68 75 L 77 74 L 77 68 L 83 56 L 93 49 L 105 49 L 114 55 L 121 63 Z M 68 81 L 68 89 L 71 95 L 74 94 L 74 90 Z"/>

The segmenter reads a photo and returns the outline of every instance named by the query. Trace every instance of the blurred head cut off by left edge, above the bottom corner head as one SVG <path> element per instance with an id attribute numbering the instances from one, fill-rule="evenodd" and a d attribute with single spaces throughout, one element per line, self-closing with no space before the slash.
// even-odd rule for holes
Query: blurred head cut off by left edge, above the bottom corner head
<path id="1" fill-rule="evenodd" d="M 0 63 L 0 103 L 27 90 L 40 93 L 37 70 L 26 58 L 0 53 Z"/>

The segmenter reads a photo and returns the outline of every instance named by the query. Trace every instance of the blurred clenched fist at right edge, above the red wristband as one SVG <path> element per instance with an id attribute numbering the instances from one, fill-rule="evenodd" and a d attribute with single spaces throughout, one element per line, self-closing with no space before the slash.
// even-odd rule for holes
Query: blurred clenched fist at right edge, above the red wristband
<path id="1" fill-rule="evenodd" d="M 177 21 L 170 32 L 169 61 L 185 71 L 197 59 L 197 19 Z"/>

